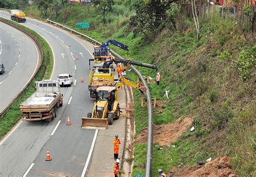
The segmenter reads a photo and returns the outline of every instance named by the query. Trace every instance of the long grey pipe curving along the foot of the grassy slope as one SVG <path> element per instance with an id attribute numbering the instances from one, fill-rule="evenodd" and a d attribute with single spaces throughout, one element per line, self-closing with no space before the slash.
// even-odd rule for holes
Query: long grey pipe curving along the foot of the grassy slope
<path id="1" fill-rule="evenodd" d="M 80 33 L 76 30 L 73 30 L 65 25 L 59 24 L 57 22 L 53 22 L 50 19 L 46 19 L 46 22 L 50 22 L 52 24 L 61 26 L 63 29 L 69 30 L 73 33 L 76 33 L 80 36 L 86 37 L 87 39 L 90 39 L 90 42 L 94 42 L 97 44 L 102 44 L 100 42 L 98 42 L 97 40 L 84 35 L 83 33 Z M 113 50 L 110 50 L 114 56 L 120 58 L 120 59 L 124 59 L 123 57 L 121 57 L 120 55 L 118 55 L 118 53 L 114 52 Z M 150 95 L 150 91 L 149 91 L 149 87 L 147 86 L 146 81 L 144 80 L 142 74 L 136 69 L 136 67 L 134 67 L 133 65 L 130 65 L 131 69 L 137 73 L 137 75 L 139 76 L 140 80 L 142 80 L 143 86 L 146 87 L 147 92 L 146 92 L 146 98 L 147 98 L 147 116 L 148 116 L 148 133 L 147 133 L 147 158 L 146 158 L 146 176 L 149 177 L 151 176 L 151 167 L 152 167 L 152 142 L 153 142 L 153 121 L 152 121 L 152 100 L 151 100 L 151 95 Z"/>

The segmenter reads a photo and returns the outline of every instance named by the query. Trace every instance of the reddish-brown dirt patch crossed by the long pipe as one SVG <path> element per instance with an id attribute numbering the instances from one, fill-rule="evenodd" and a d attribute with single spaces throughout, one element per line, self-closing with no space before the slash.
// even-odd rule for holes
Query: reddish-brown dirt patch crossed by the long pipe
<path id="1" fill-rule="evenodd" d="M 179 118 L 176 122 L 167 125 L 153 126 L 153 140 L 160 146 L 170 146 L 171 142 L 176 141 L 192 124 L 192 118 Z M 147 128 L 138 134 L 136 143 L 147 142 Z"/>

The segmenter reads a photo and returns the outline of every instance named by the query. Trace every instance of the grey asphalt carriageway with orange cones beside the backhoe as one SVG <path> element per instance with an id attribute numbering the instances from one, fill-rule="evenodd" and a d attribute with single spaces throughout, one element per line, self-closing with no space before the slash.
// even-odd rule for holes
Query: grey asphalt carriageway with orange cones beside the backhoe
<path id="1" fill-rule="evenodd" d="M 10 19 L 7 12 L 1 11 L 0 17 Z M 52 47 L 55 57 L 52 79 L 57 79 L 60 73 L 70 73 L 74 84 L 61 88 L 64 102 L 55 120 L 21 122 L 1 141 L 0 176 L 81 176 L 93 137 L 97 135 L 95 130 L 80 128 L 81 118 L 93 106 L 87 87 L 91 53 L 77 39 L 53 26 L 28 18 L 21 24 L 35 30 Z M 81 77 L 84 83 L 80 83 Z M 67 117 L 70 126 L 66 125 Z M 51 161 L 45 161 L 47 149 Z"/>

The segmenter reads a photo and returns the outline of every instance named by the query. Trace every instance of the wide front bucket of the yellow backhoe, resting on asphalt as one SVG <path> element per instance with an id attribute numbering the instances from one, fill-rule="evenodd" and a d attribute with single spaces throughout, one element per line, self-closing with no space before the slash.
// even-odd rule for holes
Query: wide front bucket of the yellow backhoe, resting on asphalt
<path id="1" fill-rule="evenodd" d="M 107 129 L 107 119 L 95 119 L 95 118 L 82 118 L 82 128 L 87 129 L 100 129 L 106 130 Z"/>

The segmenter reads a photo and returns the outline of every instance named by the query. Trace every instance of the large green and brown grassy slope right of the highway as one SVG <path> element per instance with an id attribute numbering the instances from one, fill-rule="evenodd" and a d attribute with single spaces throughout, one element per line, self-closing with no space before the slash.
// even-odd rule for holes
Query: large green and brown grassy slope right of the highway
<path id="1" fill-rule="evenodd" d="M 197 160 L 223 155 L 232 158 L 236 174 L 255 175 L 254 36 L 243 35 L 232 20 L 221 21 L 218 15 L 212 15 L 200 22 L 199 42 L 193 23 L 182 17 L 178 31 L 167 25 L 156 38 L 133 38 L 126 25 L 129 9 L 115 5 L 114 10 L 117 12 L 108 13 L 106 25 L 101 23 L 97 10 L 77 6 L 62 9 L 53 20 L 72 28 L 78 21 L 91 22 L 90 30 L 78 31 L 100 42 L 117 39 L 129 46 L 130 59 L 158 65 L 163 77 L 160 86 L 154 81 L 149 85 L 152 98 L 156 97 L 160 105 L 153 110 L 154 124 L 168 124 L 180 117 L 194 118 L 194 132 L 188 130 L 161 151 L 153 148 L 153 176 L 157 176 L 158 168 L 167 172 L 181 163 L 194 165 Z M 110 47 L 125 56 L 125 51 Z M 139 70 L 145 77 L 156 76 L 152 70 Z M 165 90 L 170 90 L 169 99 L 163 97 Z M 137 91 L 134 100 L 140 100 Z M 134 102 L 134 108 L 137 136 L 147 126 L 147 112 L 139 101 Z M 132 176 L 144 175 L 146 144 L 136 144 L 134 155 Z"/>

